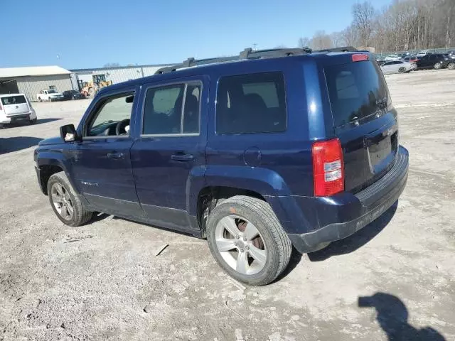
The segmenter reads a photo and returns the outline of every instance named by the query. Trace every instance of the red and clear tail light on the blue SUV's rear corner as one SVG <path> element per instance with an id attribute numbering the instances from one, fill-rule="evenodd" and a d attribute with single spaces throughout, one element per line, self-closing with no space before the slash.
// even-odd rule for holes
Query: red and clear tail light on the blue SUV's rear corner
<path id="1" fill-rule="evenodd" d="M 343 151 L 339 139 L 315 142 L 313 156 L 314 195 L 326 197 L 344 190 Z"/>

